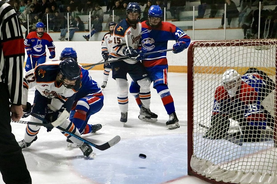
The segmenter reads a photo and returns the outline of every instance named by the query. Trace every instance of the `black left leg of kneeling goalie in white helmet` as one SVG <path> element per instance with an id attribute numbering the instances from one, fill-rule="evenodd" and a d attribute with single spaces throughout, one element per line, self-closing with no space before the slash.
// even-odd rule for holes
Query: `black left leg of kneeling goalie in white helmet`
<path id="1" fill-rule="evenodd" d="M 220 113 L 215 114 L 212 116 L 211 125 L 203 137 L 209 139 L 225 138 L 229 127 L 229 116 Z"/>

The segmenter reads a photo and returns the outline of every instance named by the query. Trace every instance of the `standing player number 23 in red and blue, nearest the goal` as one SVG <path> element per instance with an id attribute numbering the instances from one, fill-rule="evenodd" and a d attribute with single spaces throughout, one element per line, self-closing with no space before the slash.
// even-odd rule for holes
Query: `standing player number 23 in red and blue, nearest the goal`
<path id="1" fill-rule="evenodd" d="M 168 64 L 166 52 L 154 53 L 145 57 L 143 53 L 167 49 L 167 42 L 169 40 L 176 41 L 173 45 L 173 53 L 179 53 L 189 46 L 190 37 L 175 25 L 169 22 L 162 22 L 162 10 L 158 5 L 152 5 L 149 8 L 148 20 L 141 24 L 142 63 L 149 74 L 149 78 L 153 81 L 153 87 L 162 99 L 167 114 L 169 114 L 169 120 L 166 122 L 167 127 L 169 129 L 179 128 L 179 120 L 175 113 L 173 98 L 167 85 Z M 130 93 L 134 95 L 140 106 L 141 102 L 138 98 L 138 89 L 137 83 L 132 81 Z M 145 119 L 142 116 L 139 116 L 139 118 Z"/>

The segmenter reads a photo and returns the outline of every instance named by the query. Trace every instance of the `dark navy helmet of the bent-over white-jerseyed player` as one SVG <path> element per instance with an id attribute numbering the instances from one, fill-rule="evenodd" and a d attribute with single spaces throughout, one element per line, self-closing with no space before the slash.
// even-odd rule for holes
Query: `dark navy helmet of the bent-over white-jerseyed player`
<path id="1" fill-rule="evenodd" d="M 74 88 L 77 80 L 80 80 L 81 68 L 78 63 L 72 58 L 66 58 L 59 64 L 61 83 L 66 88 Z"/>

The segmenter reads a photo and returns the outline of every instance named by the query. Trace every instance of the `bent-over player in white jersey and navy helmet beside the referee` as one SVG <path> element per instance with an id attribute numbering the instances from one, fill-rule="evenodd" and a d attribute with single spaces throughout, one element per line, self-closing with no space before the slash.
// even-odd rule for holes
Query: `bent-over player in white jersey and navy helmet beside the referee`
<path id="1" fill-rule="evenodd" d="M 37 123 L 54 122 L 60 120 L 59 127 L 81 136 L 78 129 L 72 122 L 64 118 L 64 114 L 69 114 L 75 99 L 76 92 L 81 87 L 81 67 L 72 58 L 63 61 L 50 61 L 40 64 L 25 74 L 23 79 L 23 118 L 31 114 L 30 121 Z M 33 108 L 27 102 L 28 89 L 35 87 L 35 97 Z M 63 112 L 65 111 L 65 112 Z M 50 113 L 48 112 L 55 112 Z M 18 141 L 21 148 L 29 147 L 33 141 L 37 140 L 37 134 L 41 126 L 28 124 L 24 139 Z M 50 128 L 51 130 L 51 128 Z M 90 145 L 61 131 L 63 135 L 78 145 L 84 156 L 94 158 Z"/>

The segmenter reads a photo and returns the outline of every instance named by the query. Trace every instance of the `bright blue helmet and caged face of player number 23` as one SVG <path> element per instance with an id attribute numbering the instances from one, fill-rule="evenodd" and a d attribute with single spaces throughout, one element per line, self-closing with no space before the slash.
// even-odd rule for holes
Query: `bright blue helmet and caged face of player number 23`
<path id="1" fill-rule="evenodd" d="M 148 21 L 151 27 L 156 27 L 162 22 L 162 9 L 160 6 L 150 6 L 148 10 Z"/>

